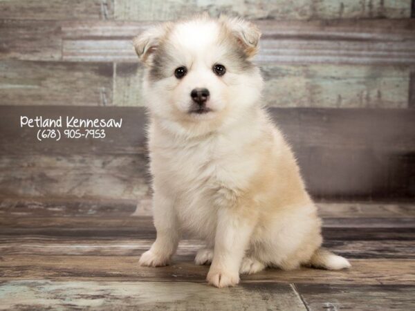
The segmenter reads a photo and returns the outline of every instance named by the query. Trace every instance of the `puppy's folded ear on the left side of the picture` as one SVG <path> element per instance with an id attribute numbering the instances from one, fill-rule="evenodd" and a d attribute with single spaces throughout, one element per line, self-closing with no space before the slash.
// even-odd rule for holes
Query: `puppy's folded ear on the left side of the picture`
<path id="1" fill-rule="evenodd" d="M 160 41 L 169 28 L 170 23 L 163 23 L 142 32 L 133 39 L 133 46 L 142 63 L 148 64 L 149 56 L 160 46 Z"/>

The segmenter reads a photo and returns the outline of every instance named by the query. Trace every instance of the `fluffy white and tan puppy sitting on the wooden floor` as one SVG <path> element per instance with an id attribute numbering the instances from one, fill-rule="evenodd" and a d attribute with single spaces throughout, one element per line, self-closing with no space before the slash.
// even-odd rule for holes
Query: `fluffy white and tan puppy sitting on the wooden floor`
<path id="1" fill-rule="evenodd" d="M 167 265 L 181 232 L 206 242 L 196 264 L 223 288 L 266 267 L 329 270 L 321 221 L 290 147 L 261 104 L 261 33 L 239 18 L 163 23 L 133 44 L 145 65 L 157 238 L 140 265 Z"/>

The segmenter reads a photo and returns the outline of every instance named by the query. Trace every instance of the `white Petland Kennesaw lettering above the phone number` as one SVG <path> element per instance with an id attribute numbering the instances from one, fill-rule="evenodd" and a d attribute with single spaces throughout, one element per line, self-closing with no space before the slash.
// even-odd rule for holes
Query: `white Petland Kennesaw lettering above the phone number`
<path id="1" fill-rule="evenodd" d="M 49 119 L 44 117 L 26 117 L 21 115 L 20 127 L 39 127 L 39 128 L 62 128 L 62 116 L 55 119 Z M 118 127 L 122 126 L 122 118 L 120 120 L 115 119 L 80 119 L 77 117 L 66 117 L 66 128 L 104 128 L 104 127 Z M 65 127 L 65 126 L 64 126 Z"/>

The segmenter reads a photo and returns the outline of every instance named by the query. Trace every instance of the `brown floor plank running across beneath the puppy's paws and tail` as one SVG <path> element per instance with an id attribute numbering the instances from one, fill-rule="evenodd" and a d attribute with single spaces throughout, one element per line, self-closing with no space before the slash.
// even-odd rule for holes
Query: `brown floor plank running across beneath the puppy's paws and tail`
<path id="1" fill-rule="evenodd" d="M 242 276 L 243 283 L 407 284 L 415 285 L 414 260 L 354 259 L 352 268 L 326 271 L 301 268 L 295 271 L 267 269 Z M 207 266 L 175 261 L 167 267 L 139 267 L 138 256 L 1 256 L 0 279 L 60 279 L 107 281 L 205 282 Z"/>

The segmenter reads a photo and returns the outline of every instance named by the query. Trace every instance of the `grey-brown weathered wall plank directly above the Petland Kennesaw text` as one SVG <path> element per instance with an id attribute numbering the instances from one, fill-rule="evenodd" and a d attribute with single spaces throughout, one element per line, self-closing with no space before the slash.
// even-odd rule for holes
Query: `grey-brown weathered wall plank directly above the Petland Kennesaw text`
<path id="1" fill-rule="evenodd" d="M 113 65 L 0 60 L 1 104 L 106 106 L 112 103 Z"/>

